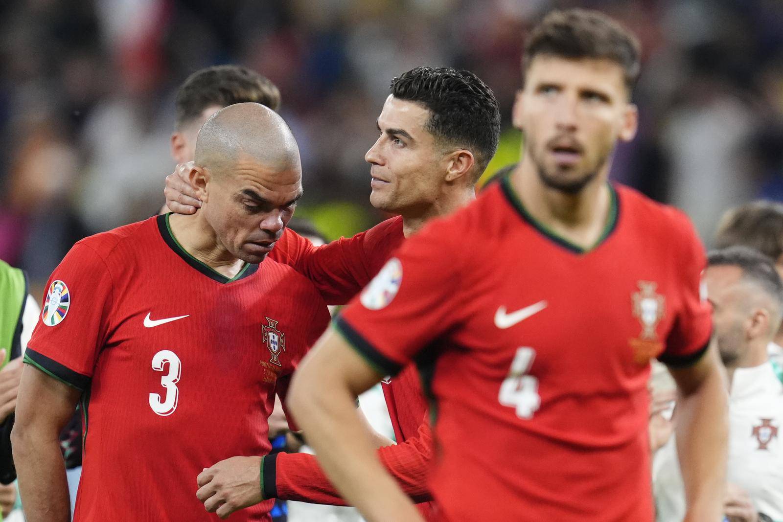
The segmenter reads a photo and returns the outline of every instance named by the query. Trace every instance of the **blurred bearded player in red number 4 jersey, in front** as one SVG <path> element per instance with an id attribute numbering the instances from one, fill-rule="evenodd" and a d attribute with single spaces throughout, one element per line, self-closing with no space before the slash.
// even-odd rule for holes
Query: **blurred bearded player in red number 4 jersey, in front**
<path id="1" fill-rule="evenodd" d="M 638 64 L 607 16 L 550 13 L 525 45 L 519 167 L 407 239 L 302 362 L 291 411 L 367 520 L 421 520 L 352 406 L 415 361 L 435 400 L 439 520 L 649 522 L 655 357 L 681 394 L 686 520 L 720 520 L 727 398 L 702 246 L 684 214 L 607 182 L 637 128 Z"/>

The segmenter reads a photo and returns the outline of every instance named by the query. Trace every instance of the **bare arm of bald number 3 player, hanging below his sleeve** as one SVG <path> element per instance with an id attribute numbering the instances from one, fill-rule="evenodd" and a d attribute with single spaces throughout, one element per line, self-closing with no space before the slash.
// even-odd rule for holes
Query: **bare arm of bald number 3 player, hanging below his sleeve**
<path id="1" fill-rule="evenodd" d="M 60 431 L 74 415 L 81 390 L 25 365 L 11 433 L 13 459 L 27 522 L 68 522 L 70 498 Z"/>

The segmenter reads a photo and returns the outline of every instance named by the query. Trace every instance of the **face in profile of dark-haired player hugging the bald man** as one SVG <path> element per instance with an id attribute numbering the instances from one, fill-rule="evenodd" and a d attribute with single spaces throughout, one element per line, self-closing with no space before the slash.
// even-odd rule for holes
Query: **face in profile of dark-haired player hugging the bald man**
<path id="1" fill-rule="evenodd" d="M 364 159 L 370 167 L 370 203 L 403 214 L 433 203 L 443 182 L 443 152 L 424 126 L 430 111 L 389 95 L 378 117 L 378 136 Z"/>

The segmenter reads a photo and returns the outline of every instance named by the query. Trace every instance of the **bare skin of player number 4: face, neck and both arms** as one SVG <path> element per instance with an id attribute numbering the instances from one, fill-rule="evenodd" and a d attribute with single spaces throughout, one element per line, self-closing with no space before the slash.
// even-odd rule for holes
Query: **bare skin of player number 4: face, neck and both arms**
<path id="1" fill-rule="evenodd" d="M 572 243 L 592 247 L 608 218 L 608 153 L 618 139 L 633 139 L 637 128 L 622 70 L 606 60 L 538 56 L 526 73 L 514 106 L 525 154 L 511 182 L 534 218 Z M 575 153 L 564 157 L 558 146 Z M 676 434 L 685 520 L 720 520 L 727 396 L 716 347 L 672 374 L 680 390 Z M 352 411 L 355 395 L 381 377 L 330 329 L 301 363 L 288 405 L 323 469 L 367 520 L 421 520 L 364 442 Z"/>

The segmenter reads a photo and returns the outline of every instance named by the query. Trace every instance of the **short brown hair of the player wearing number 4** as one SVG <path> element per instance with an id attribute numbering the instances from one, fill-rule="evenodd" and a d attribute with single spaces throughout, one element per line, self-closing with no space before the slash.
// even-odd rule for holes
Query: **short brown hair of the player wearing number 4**
<path id="1" fill-rule="evenodd" d="M 630 93 L 639 77 L 640 54 L 636 36 L 604 13 L 590 9 L 552 11 L 525 41 L 522 70 L 527 71 L 539 55 L 608 59 L 622 67 Z"/>

